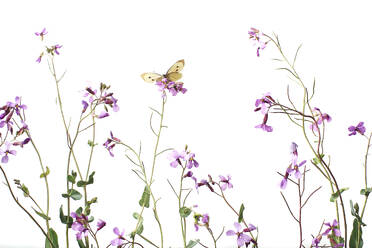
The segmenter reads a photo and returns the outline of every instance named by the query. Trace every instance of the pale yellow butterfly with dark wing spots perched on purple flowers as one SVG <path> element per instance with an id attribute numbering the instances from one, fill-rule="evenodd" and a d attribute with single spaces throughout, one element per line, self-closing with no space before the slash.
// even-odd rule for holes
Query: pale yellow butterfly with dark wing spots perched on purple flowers
<path id="1" fill-rule="evenodd" d="M 182 78 L 182 71 L 183 67 L 185 66 L 185 61 L 183 59 L 178 60 L 174 65 L 172 65 L 167 73 L 161 75 L 154 72 L 147 72 L 141 75 L 142 79 L 147 83 L 153 83 L 161 81 L 162 79 L 166 78 L 168 81 L 175 82 Z"/>

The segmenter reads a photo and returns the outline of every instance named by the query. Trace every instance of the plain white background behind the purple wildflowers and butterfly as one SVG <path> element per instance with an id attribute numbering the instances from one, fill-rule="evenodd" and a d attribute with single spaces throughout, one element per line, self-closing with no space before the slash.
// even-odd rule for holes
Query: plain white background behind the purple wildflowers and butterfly
<path id="1" fill-rule="evenodd" d="M 244 202 L 246 220 L 260 229 L 260 247 L 297 247 L 298 228 L 281 199 L 276 171 L 285 171 L 292 141 L 299 144 L 300 159 L 311 159 L 311 153 L 300 129 L 285 116 L 270 117 L 273 133 L 255 129 L 262 117 L 253 109 L 255 99 L 267 91 L 283 103 L 287 103 L 287 85 L 297 100 L 301 91 L 286 73 L 275 70 L 278 64 L 271 59 L 279 55 L 272 44 L 257 58 L 247 32 L 250 27 L 268 34 L 276 32 L 289 56 L 303 43 L 298 71 L 309 87 L 316 77 L 313 104 L 333 117 L 327 126 L 326 151 L 340 186 L 351 188 L 344 193 L 350 216 L 349 199 L 362 205 L 358 192 L 364 185 L 366 141 L 359 136 L 348 137 L 347 127 L 363 120 L 370 131 L 372 122 L 370 10 L 368 1 L 2 1 L 0 100 L 4 104 L 19 95 L 28 105 L 32 135 L 51 168 L 51 223 L 60 233 L 60 247 L 65 237 L 58 209 L 66 204 L 60 195 L 65 190 L 68 149 L 55 104 L 54 82 L 45 61 L 35 63 L 41 43 L 34 32 L 46 27 L 47 41 L 63 45 L 56 58 L 57 70 L 67 70 L 61 88 L 72 126 L 81 109 L 80 90 L 88 85 L 97 87 L 99 82 L 110 84 L 121 110 L 98 122 L 97 140 L 102 144 L 112 130 L 133 146 L 142 141 L 148 167 L 154 146 L 148 106 L 159 108 L 161 100 L 156 87 L 144 83 L 139 75 L 165 72 L 178 59 L 185 59 L 183 81 L 188 92 L 169 98 L 165 113 L 169 128 L 163 133 L 161 147 L 182 149 L 188 144 L 200 163 L 195 171 L 198 178 L 232 175 L 234 189 L 227 192 L 228 198 L 236 208 Z M 77 148 L 82 166 L 88 157 L 88 139 L 81 137 Z M 32 147 L 18 153 L 3 167 L 10 178 L 28 185 L 45 206 L 44 184 Z M 134 228 L 131 215 L 139 211 L 143 190 L 130 171 L 124 150 L 116 147 L 114 153 L 111 158 L 98 146 L 94 154 L 93 170 L 97 174 L 90 196 L 97 196 L 99 203 L 93 214 L 108 223 L 99 234 L 102 247 L 114 238 L 113 227 L 125 228 L 127 234 Z M 166 182 L 166 178 L 175 181 L 179 173 L 169 166 L 166 156 L 160 158 L 154 192 L 162 198 L 159 215 L 166 247 L 182 245 L 177 202 Z M 306 246 L 323 220 L 335 218 L 328 185 L 312 170 L 308 193 L 318 185 L 324 187 L 304 210 Z M 285 194 L 295 207 L 295 188 L 288 187 Z M 42 234 L 17 208 L 4 185 L 0 199 L 0 247 L 42 247 Z M 223 226 L 232 229 L 236 218 L 220 199 L 201 189 L 199 195 L 195 192 L 190 198 L 190 206 L 196 203 L 198 211 L 210 214 L 216 233 Z M 371 206 L 367 206 L 368 227 L 372 223 L 370 212 Z M 205 230 L 193 231 L 191 218 L 188 227 L 190 238 L 199 237 L 211 245 Z M 145 214 L 144 234 L 157 242 L 151 210 Z M 372 229 L 365 229 L 365 247 L 372 245 L 371 236 Z M 235 246 L 235 239 L 224 235 L 219 247 Z M 72 247 L 77 244 L 73 242 Z"/>

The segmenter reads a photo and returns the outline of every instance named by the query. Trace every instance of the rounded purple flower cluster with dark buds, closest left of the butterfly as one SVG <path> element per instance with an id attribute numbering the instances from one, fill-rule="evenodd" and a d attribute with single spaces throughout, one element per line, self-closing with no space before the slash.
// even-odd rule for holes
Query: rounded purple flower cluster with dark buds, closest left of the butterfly
<path id="1" fill-rule="evenodd" d="M 109 116 L 108 107 L 112 108 L 114 112 L 119 111 L 119 106 L 117 104 L 118 99 L 116 99 L 113 95 L 114 93 L 108 92 L 110 86 L 107 86 L 104 83 L 100 84 L 99 94 L 97 93 L 98 90 L 92 89 L 92 87 L 86 87 L 83 93 L 83 97 L 88 98 L 88 101 L 82 100 L 81 103 L 83 104 L 82 113 L 87 111 L 88 107 L 91 107 L 91 112 L 94 113 L 95 109 L 99 105 L 103 105 L 104 110 L 101 111 L 99 115 L 95 115 L 95 117 L 102 119 Z"/>

